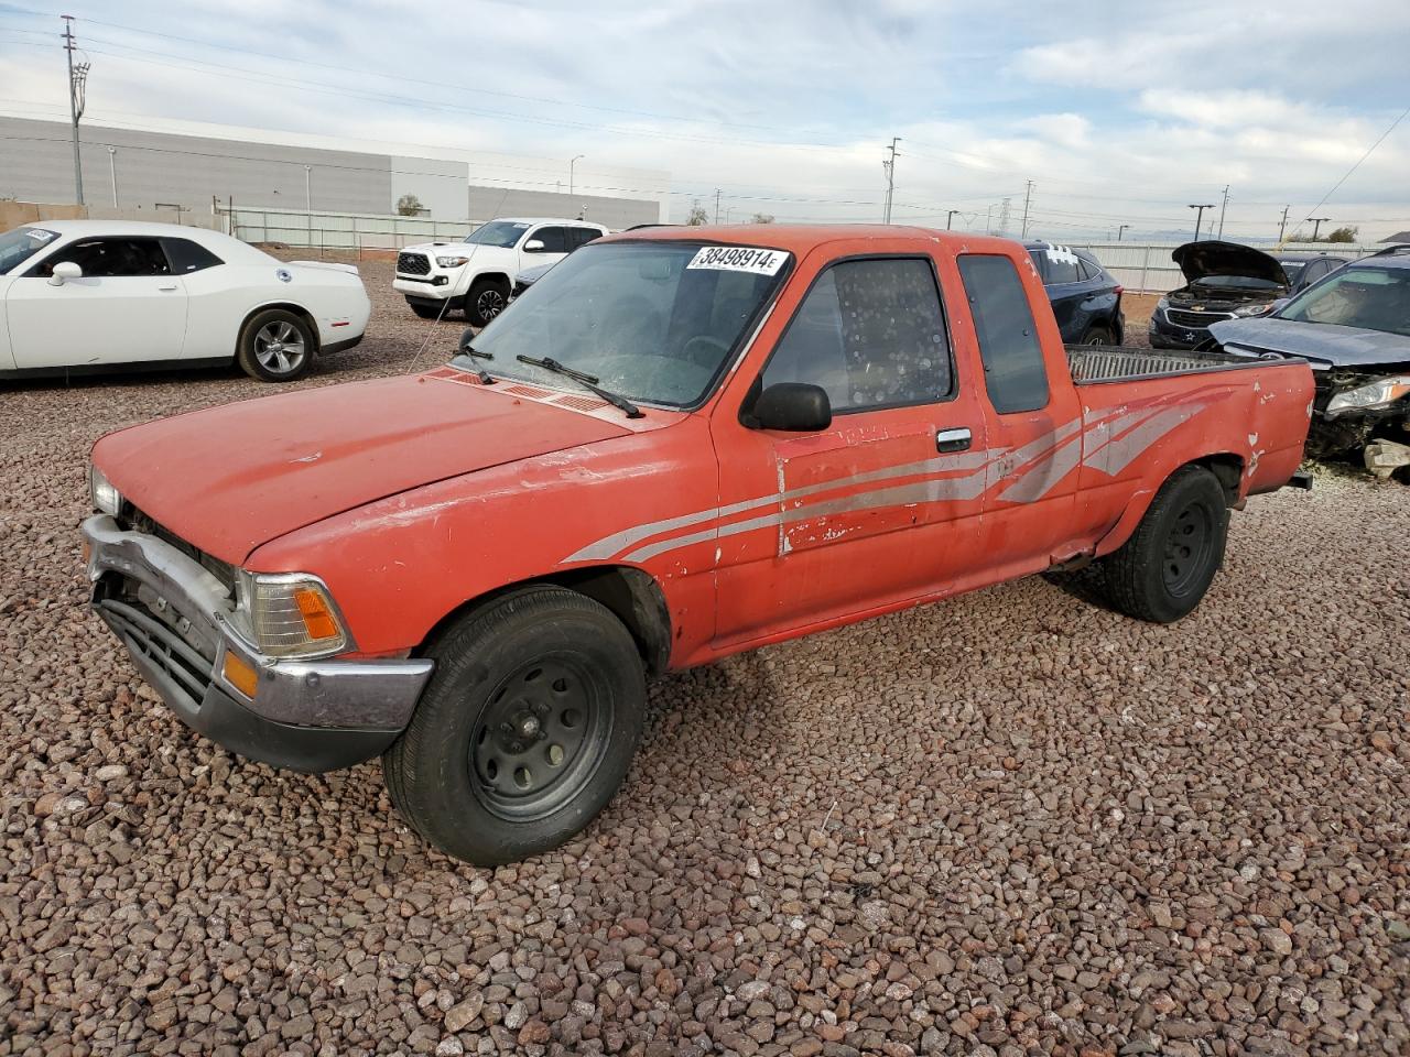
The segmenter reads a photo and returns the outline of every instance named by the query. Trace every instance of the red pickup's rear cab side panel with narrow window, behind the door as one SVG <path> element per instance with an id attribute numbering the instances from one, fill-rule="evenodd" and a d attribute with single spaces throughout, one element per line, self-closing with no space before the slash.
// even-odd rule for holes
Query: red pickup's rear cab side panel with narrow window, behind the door
<path id="1" fill-rule="evenodd" d="M 1062 337 L 1050 316 L 1039 326 L 1032 306 L 1045 299 L 1028 268 L 1010 256 L 957 258 L 970 327 L 956 327 L 962 352 L 984 366 L 990 454 L 984 528 L 993 581 L 1072 557 L 1073 505 L 1081 464 L 1081 413 Z M 967 348 L 969 347 L 969 348 Z"/>

